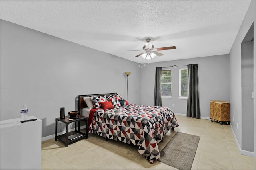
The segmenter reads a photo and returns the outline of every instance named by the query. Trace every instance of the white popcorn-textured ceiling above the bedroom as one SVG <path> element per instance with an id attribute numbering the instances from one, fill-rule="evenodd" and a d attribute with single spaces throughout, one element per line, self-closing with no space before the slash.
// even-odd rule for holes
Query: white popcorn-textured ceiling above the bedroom
<path id="1" fill-rule="evenodd" d="M 228 54 L 251 0 L 0 0 L 0 18 L 138 63 Z M 86 54 L 84 54 L 86 57 Z"/>

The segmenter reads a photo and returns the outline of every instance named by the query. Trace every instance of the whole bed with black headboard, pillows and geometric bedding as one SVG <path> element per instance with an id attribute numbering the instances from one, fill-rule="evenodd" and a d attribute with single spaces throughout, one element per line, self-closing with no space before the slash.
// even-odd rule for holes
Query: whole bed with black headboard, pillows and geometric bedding
<path id="1" fill-rule="evenodd" d="M 139 146 L 138 152 L 152 164 L 160 158 L 158 143 L 174 127 L 168 107 L 129 104 L 117 93 L 78 96 L 78 111 L 88 118 L 88 133 Z"/>

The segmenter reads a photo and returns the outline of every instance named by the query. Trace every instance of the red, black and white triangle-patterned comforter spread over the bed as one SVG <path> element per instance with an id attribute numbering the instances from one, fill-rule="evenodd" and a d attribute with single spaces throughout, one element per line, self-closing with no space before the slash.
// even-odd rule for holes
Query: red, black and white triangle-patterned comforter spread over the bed
<path id="1" fill-rule="evenodd" d="M 168 107 L 129 104 L 114 109 L 95 110 L 90 133 L 138 145 L 138 152 L 152 164 L 160 158 L 157 143 L 172 128 L 178 127 Z"/>

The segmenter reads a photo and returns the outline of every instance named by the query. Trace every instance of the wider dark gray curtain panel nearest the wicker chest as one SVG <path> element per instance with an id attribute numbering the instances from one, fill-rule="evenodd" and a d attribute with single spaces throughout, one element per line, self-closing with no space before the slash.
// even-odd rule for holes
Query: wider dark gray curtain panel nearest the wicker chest
<path id="1" fill-rule="evenodd" d="M 188 65 L 188 105 L 187 117 L 200 119 L 200 103 L 198 90 L 198 64 Z"/>

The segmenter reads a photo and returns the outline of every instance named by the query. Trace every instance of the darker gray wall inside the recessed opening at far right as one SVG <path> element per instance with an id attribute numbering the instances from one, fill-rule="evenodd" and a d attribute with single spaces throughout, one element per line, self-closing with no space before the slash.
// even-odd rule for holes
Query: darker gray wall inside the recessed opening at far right
<path id="1" fill-rule="evenodd" d="M 254 152 L 253 137 L 253 42 L 242 43 L 242 150 Z"/>

